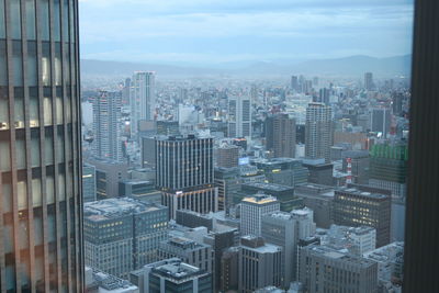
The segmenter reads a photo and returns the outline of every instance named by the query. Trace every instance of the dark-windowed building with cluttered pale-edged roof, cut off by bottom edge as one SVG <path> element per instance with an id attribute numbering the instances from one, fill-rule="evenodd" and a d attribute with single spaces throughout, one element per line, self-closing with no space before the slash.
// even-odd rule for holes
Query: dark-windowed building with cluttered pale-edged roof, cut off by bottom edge
<path id="1" fill-rule="evenodd" d="M 212 273 L 179 258 L 148 263 L 133 272 L 130 279 L 137 283 L 139 293 L 213 292 Z"/>

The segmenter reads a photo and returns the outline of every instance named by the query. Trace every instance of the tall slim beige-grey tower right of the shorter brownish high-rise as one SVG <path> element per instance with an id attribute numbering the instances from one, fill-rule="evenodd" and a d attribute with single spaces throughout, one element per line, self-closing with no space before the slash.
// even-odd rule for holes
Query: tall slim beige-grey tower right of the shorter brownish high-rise
<path id="1" fill-rule="evenodd" d="M 326 162 L 330 162 L 330 146 L 333 140 L 331 112 L 331 108 L 323 103 L 309 103 L 306 108 L 306 158 L 325 158 Z"/>

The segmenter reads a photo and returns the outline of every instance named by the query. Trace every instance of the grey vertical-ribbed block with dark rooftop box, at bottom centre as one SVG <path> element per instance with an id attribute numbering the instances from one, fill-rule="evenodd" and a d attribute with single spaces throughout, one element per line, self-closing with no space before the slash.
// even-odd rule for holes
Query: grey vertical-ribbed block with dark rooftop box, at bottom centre
<path id="1" fill-rule="evenodd" d="M 244 236 L 239 246 L 239 292 L 250 293 L 282 282 L 282 247 Z"/>

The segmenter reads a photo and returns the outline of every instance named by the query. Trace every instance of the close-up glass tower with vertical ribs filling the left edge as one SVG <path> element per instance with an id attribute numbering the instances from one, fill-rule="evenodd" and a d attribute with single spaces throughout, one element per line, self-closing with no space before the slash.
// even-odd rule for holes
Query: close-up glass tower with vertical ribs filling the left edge
<path id="1" fill-rule="evenodd" d="M 82 292 L 78 1 L 0 1 L 0 291 Z"/>

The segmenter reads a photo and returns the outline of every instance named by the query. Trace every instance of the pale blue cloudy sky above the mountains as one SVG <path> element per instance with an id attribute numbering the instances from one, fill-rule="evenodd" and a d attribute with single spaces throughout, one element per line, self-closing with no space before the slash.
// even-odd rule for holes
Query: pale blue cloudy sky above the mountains
<path id="1" fill-rule="evenodd" d="M 83 59 L 230 65 L 412 53 L 413 0 L 79 0 Z"/>

